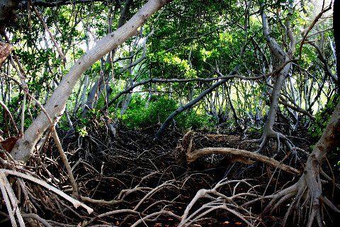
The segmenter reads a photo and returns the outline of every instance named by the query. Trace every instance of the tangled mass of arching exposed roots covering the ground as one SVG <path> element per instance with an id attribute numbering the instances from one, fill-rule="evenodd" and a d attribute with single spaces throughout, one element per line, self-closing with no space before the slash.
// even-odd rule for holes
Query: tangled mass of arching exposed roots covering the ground
<path id="1" fill-rule="evenodd" d="M 98 131 L 98 134 L 101 132 Z M 186 164 L 179 165 L 176 154 L 173 152 L 179 138 L 170 138 L 171 145 L 169 142 L 162 142 L 162 145 L 149 145 L 149 139 L 146 138 L 149 135 L 140 133 L 140 138 L 136 139 L 135 132 L 129 132 L 129 134 L 122 131 L 120 133 L 122 133 L 121 139 L 117 137 L 106 144 L 97 135 L 89 134 L 91 139 L 78 138 L 71 143 L 70 148 L 67 150 L 64 148 L 74 177 L 77 179 L 79 199 L 81 202 L 91 204 L 94 207 L 94 214 L 89 215 L 84 209 L 72 208 L 66 201 L 67 199 L 57 196 L 53 191 L 46 190 L 42 184 L 31 183 L 30 180 L 18 175 L 12 175 L 11 178 L 7 175 L 8 182 L 15 178 L 14 182 L 18 186 L 11 185 L 12 194 L 4 187 L 7 204 L 11 206 L 9 214 L 12 216 L 1 213 L 0 215 L 4 216 L 6 223 L 13 221 L 17 226 L 20 226 L 21 215 L 23 221 L 33 223 L 34 226 L 76 227 L 78 223 L 81 223 L 81 227 L 152 226 L 154 223 L 169 223 L 169 226 L 188 227 L 196 225 L 221 226 L 223 225 L 222 220 L 225 220 L 222 218 L 227 218 L 231 225 L 233 222 L 242 222 L 245 226 L 266 226 L 266 219 L 261 215 L 262 209 L 259 209 L 258 205 L 268 199 L 270 201 L 265 208 L 266 212 L 275 211 L 281 207 L 285 208 L 283 224 L 291 220 L 292 214 L 300 219 L 305 217 L 304 212 L 313 216 L 314 222 L 320 222 L 325 206 L 331 210 L 339 211 L 324 196 L 319 196 L 319 211 L 310 211 L 313 197 L 310 194 L 310 187 L 307 187 L 309 185 L 307 178 L 310 175 L 304 175 L 304 181 L 300 180 L 297 184 L 287 188 L 285 188 L 284 182 L 276 182 L 278 187 L 285 188 L 281 191 L 276 191 L 276 185 L 268 187 L 267 190 L 265 184 L 253 184 L 253 179 L 243 179 L 247 178 L 249 171 L 246 170 L 249 170 L 249 166 L 239 165 L 242 166 L 242 170 L 244 169 L 244 175 L 237 178 L 239 169 L 234 168 L 235 170 L 227 174 L 227 179 L 227 177 L 223 177 L 226 174 L 223 174 L 230 171 L 229 162 L 224 167 L 217 167 L 213 162 L 210 162 L 210 159 L 205 159 L 204 162 L 196 162 L 191 165 L 192 169 L 188 169 Z M 65 138 L 63 140 L 67 141 Z M 294 175 L 300 174 L 299 170 L 259 153 L 233 148 L 204 148 L 206 145 L 219 145 L 219 143 L 228 145 L 225 137 L 223 140 L 218 138 L 216 141 L 210 140 L 199 132 L 196 134 L 190 132 L 184 136 L 181 146 L 178 146 L 177 149 L 181 150 L 182 155 L 189 162 L 197 160 L 203 155 L 217 154 L 215 157 L 218 159 L 225 155 L 233 162 L 246 164 L 256 161 L 263 162 L 279 170 L 278 175 L 280 175 L 280 170 Z M 203 149 L 198 149 L 202 147 Z M 47 146 L 42 145 L 42 149 L 44 148 Z M 104 165 L 103 162 L 109 162 L 110 165 Z M 4 167 L 11 169 L 11 165 L 8 163 L 10 162 L 4 160 L 0 162 Z M 202 163 L 204 164 L 202 167 L 205 169 L 203 171 L 196 169 Z M 208 165 L 205 165 L 206 163 Z M 53 187 L 61 189 L 62 192 L 71 194 L 72 183 L 67 176 L 67 170 L 62 170 L 63 166 L 57 149 L 54 153 L 38 150 L 30 165 L 20 170 L 16 168 L 13 170 L 43 180 Z M 32 174 L 30 168 L 38 170 L 37 174 Z M 220 170 L 222 170 L 222 175 Z M 235 173 L 236 176 L 233 175 Z M 259 173 L 261 175 L 261 170 Z M 282 176 L 290 177 L 292 175 Z M 229 177 L 236 178 L 229 179 Z M 252 171 L 251 177 L 254 177 Z M 266 180 L 266 173 L 263 173 L 258 179 L 257 182 Z M 308 180 L 310 179 L 308 178 Z M 331 181 L 331 177 L 326 179 Z M 269 182 L 273 182 L 272 179 Z M 318 180 L 318 182 L 323 181 Z M 266 194 L 273 193 L 271 189 L 274 189 L 276 193 Z M 13 194 L 18 199 L 17 205 L 15 200 L 10 199 Z M 290 201 L 289 205 L 285 206 L 288 201 Z M 18 209 L 15 209 L 16 207 Z M 20 211 L 19 214 L 16 214 L 16 211 Z M 44 219 L 46 218 L 45 212 L 52 213 L 52 216 L 49 217 L 51 220 Z M 277 221 L 273 222 L 277 223 Z"/>

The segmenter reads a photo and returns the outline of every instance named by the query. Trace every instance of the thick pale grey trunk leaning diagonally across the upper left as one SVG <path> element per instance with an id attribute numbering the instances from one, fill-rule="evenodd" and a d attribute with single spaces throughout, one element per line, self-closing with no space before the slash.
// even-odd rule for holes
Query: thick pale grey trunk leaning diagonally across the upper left
<path id="1" fill-rule="evenodd" d="M 96 43 L 94 48 L 87 51 L 74 66 L 69 70 L 69 73 L 62 79 L 59 86 L 52 93 L 52 96 L 47 101 L 45 110 L 50 118 L 56 123 L 60 116 L 64 113 L 67 99 L 72 94 L 72 89 L 77 83 L 81 75 L 87 70 L 91 65 L 94 64 L 101 57 L 106 55 L 108 52 L 117 48 L 137 33 L 137 29 L 145 23 L 147 18 L 152 16 L 153 13 L 158 11 L 164 6 L 164 4 L 169 3 L 171 0 L 149 0 L 142 6 L 142 8 L 134 15 L 130 20 L 125 23 L 118 30 L 114 31 L 103 37 Z M 41 138 L 42 133 L 44 133 L 47 128 L 50 127 L 50 122 L 47 116 L 41 112 L 35 121 L 30 125 L 23 135 L 23 138 L 17 141 L 15 147 L 12 150 L 12 156 L 16 160 L 22 160 L 27 162 L 33 152 L 36 143 Z"/>

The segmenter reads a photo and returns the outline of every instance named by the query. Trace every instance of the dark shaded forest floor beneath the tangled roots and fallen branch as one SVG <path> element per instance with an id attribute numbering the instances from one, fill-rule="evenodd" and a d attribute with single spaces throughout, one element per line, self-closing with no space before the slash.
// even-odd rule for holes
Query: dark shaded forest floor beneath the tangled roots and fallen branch
<path id="1" fill-rule="evenodd" d="M 249 179 L 252 185 L 256 185 L 259 194 L 273 194 L 287 184 L 292 184 L 298 177 L 268 167 L 261 162 L 246 165 L 239 162 L 235 157 L 224 157 L 223 155 L 208 155 L 196 162 L 188 164 L 186 154 L 181 150 L 183 134 L 172 129 L 164 135 L 162 140 L 155 140 L 158 126 L 151 126 L 145 130 L 132 131 L 120 128 L 118 134 L 113 138 L 108 131 L 96 126 L 91 128 L 91 133 L 84 137 L 71 133 L 64 134 L 62 144 L 69 157 L 74 176 L 79 185 L 82 196 L 91 199 L 103 199 L 102 204 L 86 203 L 95 209 L 94 214 L 86 217 L 91 219 L 90 223 L 100 223 L 113 226 L 131 226 L 141 219 L 140 215 L 130 214 L 131 210 L 140 214 L 155 214 L 159 211 L 171 211 L 177 216 L 182 216 L 186 207 L 195 197 L 200 189 L 212 189 L 221 179 L 239 180 Z M 104 132 L 104 133 L 103 133 Z M 260 135 L 238 135 L 228 132 L 212 134 L 208 131 L 197 131 L 193 135 L 193 149 L 199 148 L 239 148 L 244 150 L 256 150 L 256 145 L 240 142 L 244 139 L 259 138 Z M 305 135 L 300 133 L 301 137 Z M 313 140 L 309 138 L 300 139 L 295 135 L 293 143 L 304 150 L 310 151 Z M 276 152 L 275 141 L 270 141 L 266 146 L 266 154 L 271 156 Z M 64 192 L 72 191 L 67 173 L 62 161 L 52 143 L 46 143 L 46 155 L 42 156 L 42 163 L 49 163 L 46 169 L 38 170 L 41 176 L 46 176 L 51 181 L 52 175 L 55 179 L 62 179 L 56 184 Z M 306 156 L 301 156 L 300 161 L 286 160 L 286 165 L 291 165 L 297 170 L 303 170 Z M 276 160 L 284 157 L 278 155 Z M 52 161 L 55 160 L 55 161 Z M 47 173 L 48 172 L 48 173 Z M 339 173 L 337 173 L 339 175 Z M 219 189 L 224 194 L 247 192 L 246 184 L 240 184 L 235 189 L 227 184 Z M 328 190 L 327 190 L 328 188 Z M 332 186 L 326 187 L 326 193 L 332 197 Z M 333 195 L 339 197 L 339 195 Z M 334 198 L 339 205 L 339 198 Z M 200 199 L 194 204 L 191 213 L 207 204 L 209 199 Z M 37 201 L 37 203 L 39 203 Z M 267 201 L 255 203 L 251 206 L 251 212 L 257 216 L 261 214 Z M 260 226 L 280 226 L 282 216 L 285 214 L 285 206 L 281 206 L 273 214 L 261 214 Z M 69 209 L 59 212 L 57 208 L 46 203 L 40 206 L 40 216 L 45 219 L 60 221 L 61 223 L 77 224 L 84 221 L 84 214 L 78 209 Z M 103 216 L 99 214 L 108 211 L 121 211 L 114 215 Z M 125 213 L 129 210 L 128 214 Z M 162 213 L 162 212 L 161 212 Z M 96 217 L 97 216 L 97 217 Z M 333 218 L 336 220 L 336 218 Z M 153 221 L 150 221 L 153 220 Z M 176 217 L 166 214 L 152 216 L 147 223 L 143 221 L 140 226 L 177 226 Z M 201 218 L 191 226 L 246 226 L 240 218 L 223 209 L 216 209 Z M 290 226 L 290 225 L 288 225 Z"/>

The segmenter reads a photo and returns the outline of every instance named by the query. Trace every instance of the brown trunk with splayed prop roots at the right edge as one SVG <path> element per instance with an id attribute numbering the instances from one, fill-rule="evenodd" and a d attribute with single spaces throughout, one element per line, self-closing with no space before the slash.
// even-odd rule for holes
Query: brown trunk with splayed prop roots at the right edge
<path id="1" fill-rule="evenodd" d="M 334 40 L 336 43 L 336 56 L 337 58 L 340 55 L 340 31 L 337 28 L 337 25 L 340 23 L 339 13 L 340 13 L 340 2 L 339 0 L 334 1 Z M 336 61 L 336 72 L 339 75 L 340 72 L 340 61 Z M 339 87 L 338 87 L 339 89 Z M 339 92 L 339 90 L 338 90 Z M 265 210 L 271 209 L 272 211 L 278 207 L 280 204 L 283 204 L 284 201 L 294 198 L 293 201 L 290 202 L 288 210 L 283 218 L 281 223 L 282 226 L 285 226 L 286 221 L 288 220 L 288 216 L 290 213 L 295 210 L 298 212 L 302 212 L 302 209 L 305 208 L 309 211 L 309 217 L 307 226 L 310 227 L 313 225 L 314 220 L 317 220 L 317 224 L 319 227 L 324 226 L 323 224 L 323 212 L 325 206 L 328 206 L 329 209 L 340 213 L 340 210 L 334 206 L 334 204 L 327 199 L 326 196 L 322 194 L 322 180 L 320 179 L 320 173 L 323 173 L 324 177 L 329 181 L 333 181 L 331 177 L 327 176 L 324 172 L 322 172 L 322 160 L 326 157 L 327 153 L 330 153 L 332 150 L 335 150 L 336 146 L 340 144 L 340 101 L 336 105 L 333 114 L 329 122 L 327 123 L 324 132 L 322 133 L 321 138 L 314 146 L 312 153 L 307 158 L 307 162 L 305 165 L 305 170 L 303 175 L 300 177 L 299 181 L 296 184 L 288 187 L 287 189 L 283 189 L 283 191 L 278 192 L 271 202 L 266 206 Z M 335 182 L 333 182 L 335 184 Z M 272 209 L 274 208 L 274 209 Z M 300 214 L 300 213 L 298 213 Z"/>

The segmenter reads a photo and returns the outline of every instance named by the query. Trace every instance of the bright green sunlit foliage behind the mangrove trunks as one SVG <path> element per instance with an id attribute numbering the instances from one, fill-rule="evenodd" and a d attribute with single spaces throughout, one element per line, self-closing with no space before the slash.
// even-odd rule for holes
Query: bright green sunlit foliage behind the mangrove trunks
<path id="1" fill-rule="evenodd" d="M 23 71 L 26 72 L 26 83 L 30 94 L 33 94 L 42 104 L 45 104 L 57 87 L 57 83 L 74 65 L 75 60 L 79 59 L 87 49 L 92 48 L 95 40 L 99 40 L 103 35 L 117 29 L 120 11 L 123 9 L 125 1 L 115 2 L 117 4 L 94 1 L 88 4 L 38 7 L 47 27 L 67 57 L 65 65 L 62 64 L 62 60 L 50 40 L 50 35 L 47 34 L 35 13 L 32 11 L 28 18 L 27 11 L 18 11 L 18 23 L 15 27 L 8 28 L 6 32 L 10 34 L 9 38 L 12 45 L 15 46 L 16 55 L 23 66 Z M 133 1 L 126 18 L 131 18 L 145 2 L 146 0 Z M 308 100 L 319 99 L 318 103 L 314 103 L 310 107 L 315 114 L 316 110 L 326 103 L 327 94 L 332 94 L 328 87 L 334 88 L 335 86 L 329 80 L 329 76 L 325 74 L 324 63 L 319 60 L 318 52 L 312 45 L 306 42 L 302 47 L 301 56 L 298 50 L 300 50 L 299 40 L 302 31 L 310 25 L 314 14 L 318 13 L 319 9 L 313 4 L 302 5 L 290 0 L 271 0 L 263 1 L 263 3 L 268 16 L 271 36 L 285 51 L 289 48 L 285 26 L 290 22 L 297 41 L 297 47 L 291 57 L 300 58 L 294 62 L 290 75 L 293 80 L 293 89 L 295 89 L 295 102 L 297 106 L 307 110 L 310 107 Z M 273 57 L 263 36 L 259 1 L 252 1 L 249 9 L 246 4 L 245 1 L 237 0 L 174 0 L 173 3 L 165 7 L 161 14 L 155 13 L 142 26 L 137 36 L 130 38 L 115 49 L 115 55 L 111 56 L 110 61 L 108 60 L 110 56 L 106 55 L 84 72 L 86 78 L 89 79 L 88 84 L 85 87 L 85 79 L 82 77 L 67 101 L 67 111 L 69 111 L 71 120 L 74 121 L 74 127 L 89 126 L 91 120 L 101 118 L 106 114 L 108 118 L 113 119 L 119 115 L 125 96 L 121 96 L 113 105 L 109 106 L 106 113 L 103 113 L 100 110 L 105 104 L 107 93 L 100 92 L 101 89 L 98 89 L 99 93 L 96 94 L 94 100 L 94 109 L 89 111 L 86 118 L 81 117 L 83 115 L 80 100 L 83 89 L 86 101 L 90 89 L 101 77 L 106 79 L 108 87 L 110 87 L 108 96 L 111 99 L 115 94 L 128 87 L 130 79 L 137 83 L 155 77 L 164 79 L 209 78 L 217 77 L 215 73 L 217 69 L 220 73 L 227 75 L 236 67 L 239 74 L 250 77 L 266 74 L 270 72 L 271 67 L 273 69 L 278 67 L 280 62 Z M 248 14 L 249 16 L 246 16 Z M 316 35 L 312 35 L 309 40 L 314 40 L 315 44 L 321 48 L 331 72 L 335 74 L 334 53 L 330 45 L 333 40 L 332 31 L 329 30 L 331 20 L 325 18 L 322 23 L 320 22 L 310 31 L 309 35 L 313 33 Z M 146 42 L 145 58 L 135 67 L 124 71 L 125 67 L 142 56 L 143 40 L 152 30 L 154 33 L 148 36 Z M 322 35 L 316 33 L 317 31 L 323 31 Z M 129 58 L 130 56 L 133 57 Z M 6 69 L 8 68 L 8 76 L 19 80 L 15 70 L 8 62 L 3 66 L 3 72 L 7 73 Z M 175 118 L 176 126 L 179 128 L 209 128 L 216 121 L 222 126 L 233 127 L 235 125 L 234 117 L 226 92 L 229 90 L 237 117 L 242 120 L 241 124 L 245 124 L 244 128 L 251 127 L 251 121 L 243 120 L 249 119 L 249 117 L 254 120 L 256 117 L 263 121 L 268 111 L 270 86 L 273 86 L 275 80 L 273 78 L 275 77 L 256 81 L 231 79 L 206 96 L 195 109 L 185 111 Z M 23 91 L 15 83 L 9 87 L 8 79 L 4 79 L 1 83 L 3 83 L 1 86 L 5 91 L 11 90 L 11 99 L 6 98 L 6 92 L 3 92 L 4 97 L 1 97 L 1 100 L 4 100 L 16 121 L 20 122 L 21 113 L 18 111 L 18 106 L 21 106 Z M 179 107 L 179 103 L 188 103 L 213 83 L 154 83 L 137 87 L 135 91 L 138 91 L 140 95 L 132 96 L 128 110 L 123 116 L 119 116 L 120 121 L 131 128 L 161 124 L 172 111 Z M 317 96 L 319 84 L 325 85 L 321 88 L 321 95 Z M 293 93 L 289 85 L 288 82 L 285 84 L 283 96 L 288 96 L 288 98 L 285 97 L 285 100 L 292 104 Z M 153 96 L 152 101 L 147 105 L 146 96 L 149 90 L 154 90 L 159 95 Z M 169 96 L 162 97 L 167 93 L 157 92 L 169 92 L 171 99 Z M 312 136 L 321 135 L 329 117 L 330 111 L 327 111 L 329 107 L 331 106 L 326 106 L 322 113 L 317 114 L 316 122 L 312 123 L 310 128 Z M 34 119 L 40 112 L 40 109 L 33 108 L 33 102 L 27 101 L 26 108 L 30 109 L 31 116 L 28 116 L 28 111 L 26 111 L 25 128 L 30 125 L 31 119 Z M 289 110 L 290 112 L 288 110 L 280 105 L 280 111 L 293 120 L 290 115 L 292 110 Z M 212 121 L 212 117 L 208 114 L 214 115 L 217 119 Z M 13 131 L 13 127 L 8 123 L 8 117 L 5 118 L 4 114 L 1 114 L 0 122 L 5 121 L 6 123 L 3 125 L 8 125 L 9 131 Z M 309 120 L 306 120 L 306 116 L 304 116 L 302 121 Z M 59 127 L 64 131 L 69 130 L 66 116 L 62 116 Z M 4 131 L 4 128 L 1 126 L 1 130 Z M 257 129 L 250 128 L 249 131 L 257 131 Z"/>

